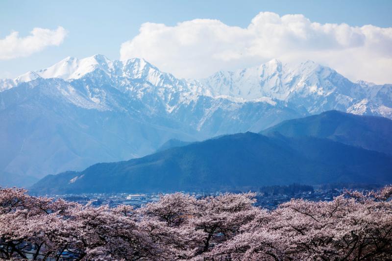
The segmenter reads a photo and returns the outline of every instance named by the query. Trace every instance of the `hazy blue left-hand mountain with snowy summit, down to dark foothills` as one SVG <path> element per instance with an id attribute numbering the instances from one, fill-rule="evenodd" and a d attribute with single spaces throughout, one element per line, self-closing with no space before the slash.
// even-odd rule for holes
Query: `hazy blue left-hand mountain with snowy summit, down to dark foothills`
<path id="1" fill-rule="evenodd" d="M 151 154 L 170 139 L 260 131 L 308 115 L 285 101 L 203 94 L 143 59 L 67 58 L 13 82 L 0 92 L 2 176 L 82 170 Z"/>

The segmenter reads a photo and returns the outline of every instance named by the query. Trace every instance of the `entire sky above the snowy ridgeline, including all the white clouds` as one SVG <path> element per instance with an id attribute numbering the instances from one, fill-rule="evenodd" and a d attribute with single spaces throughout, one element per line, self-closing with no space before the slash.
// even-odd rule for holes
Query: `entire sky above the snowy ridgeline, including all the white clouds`
<path id="1" fill-rule="evenodd" d="M 313 60 L 392 83 L 392 1 L 0 1 L 0 78 L 67 56 L 145 58 L 177 77 Z"/>

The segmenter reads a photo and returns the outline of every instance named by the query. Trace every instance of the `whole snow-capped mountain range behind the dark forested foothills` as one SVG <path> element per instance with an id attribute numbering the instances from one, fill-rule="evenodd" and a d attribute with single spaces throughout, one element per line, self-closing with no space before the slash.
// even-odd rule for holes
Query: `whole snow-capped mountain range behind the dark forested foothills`
<path id="1" fill-rule="evenodd" d="M 336 109 L 392 118 L 392 85 L 277 60 L 178 79 L 144 59 L 68 57 L 0 80 L 0 173 L 42 177 L 147 155 L 169 139 L 258 132 Z"/>

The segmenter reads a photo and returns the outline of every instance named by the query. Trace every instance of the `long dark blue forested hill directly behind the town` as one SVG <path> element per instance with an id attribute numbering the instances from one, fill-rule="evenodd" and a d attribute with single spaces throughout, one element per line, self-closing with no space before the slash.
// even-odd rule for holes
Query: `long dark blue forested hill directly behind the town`
<path id="1" fill-rule="evenodd" d="M 312 137 L 227 135 L 140 159 L 48 175 L 32 193 L 219 190 L 267 185 L 388 183 L 392 156 Z"/>

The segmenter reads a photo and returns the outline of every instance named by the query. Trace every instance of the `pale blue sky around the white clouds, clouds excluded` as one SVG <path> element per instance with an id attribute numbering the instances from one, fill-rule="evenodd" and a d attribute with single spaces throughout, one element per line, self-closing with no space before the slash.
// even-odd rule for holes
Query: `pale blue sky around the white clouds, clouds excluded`
<path id="1" fill-rule="evenodd" d="M 179 22 L 193 19 L 217 19 L 228 26 L 246 28 L 260 12 L 273 12 L 279 16 L 302 14 L 311 22 L 320 24 L 348 24 L 352 27 L 372 24 L 377 27 L 392 27 L 392 1 L 20 1 L 3 0 L 0 2 L 0 39 L 12 31 L 18 31 L 19 37 L 29 35 L 34 27 L 55 30 L 62 26 L 67 31 L 64 40 L 58 46 L 48 46 L 40 51 L 0 60 L 0 78 L 15 77 L 25 71 L 46 68 L 59 60 L 74 56 L 83 58 L 96 53 L 110 59 L 120 58 L 122 43 L 132 40 L 139 34 L 143 23 L 158 23 L 175 26 Z M 159 38 L 158 38 L 159 39 Z M 133 47 L 134 45 L 132 45 Z M 137 52 L 138 49 L 135 49 Z M 135 52 L 131 52 L 134 54 Z M 146 53 L 149 50 L 141 50 Z M 390 49 L 386 49 L 388 56 Z M 306 54 L 310 56 L 309 54 Z M 302 55 L 301 58 L 306 55 Z M 356 56 L 358 56 L 356 54 Z M 364 55 L 365 57 L 371 54 Z M 287 59 L 287 55 L 283 59 Z M 184 57 L 184 59 L 187 57 Z M 252 66 L 265 62 L 270 57 L 257 56 L 239 62 L 242 66 Z M 176 71 L 173 65 L 165 65 L 158 58 L 151 57 L 166 71 Z M 170 56 L 165 57 L 170 59 Z M 189 59 L 189 58 L 188 58 Z M 288 58 L 290 60 L 291 58 Z M 324 59 L 325 60 L 325 59 Z M 321 63 L 329 65 L 320 58 Z M 385 59 L 384 59 L 385 60 Z M 386 67 L 389 61 L 377 62 Z M 331 65 L 338 62 L 331 62 Z M 195 63 L 195 66 L 197 63 Z M 216 70 L 235 69 L 218 68 L 221 63 L 213 64 Z M 215 70 L 212 67 L 210 71 Z M 192 68 L 190 68 L 192 71 Z M 365 70 L 365 69 L 364 69 Z M 387 70 L 387 69 L 386 69 Z M 389 69 L 388 69 L 389 70 Z M 178 70 L 177 70 L 178 71 Z M 210 71 L 205 71 L 209 73 Z M 343 70 L 344 71 L 344 70 Z M 385 71 L 383 73 L 386 73 Z M 178 71 L 188 76 L 192 72 Z M 202 76 L 203 72 L 196 73 Z M 348 73 L 349 74 L 349 73 Z M 184 76 L 180 75 L 180 76 Z M 355 76 L 349 75 L 352 78 Z M 372 78 L 373 76 L 369 77 Z M 378 77 L 378 78 L 377 78 Z M 385 80 L 385 77 L 374 76 Z"/>

